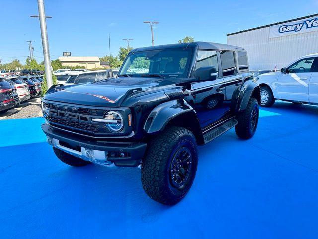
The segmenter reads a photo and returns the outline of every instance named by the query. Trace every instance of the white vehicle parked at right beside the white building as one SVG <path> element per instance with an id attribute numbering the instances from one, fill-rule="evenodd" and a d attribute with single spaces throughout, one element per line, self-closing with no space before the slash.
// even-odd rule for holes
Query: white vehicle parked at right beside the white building
<path id="1" fill-rule="evenodd" d="M 318 53 L 303 56 L 281 71 L 259 75 L 261 106 L 269 107 L 275 100 L 294 104 L 318 104 Z"/>

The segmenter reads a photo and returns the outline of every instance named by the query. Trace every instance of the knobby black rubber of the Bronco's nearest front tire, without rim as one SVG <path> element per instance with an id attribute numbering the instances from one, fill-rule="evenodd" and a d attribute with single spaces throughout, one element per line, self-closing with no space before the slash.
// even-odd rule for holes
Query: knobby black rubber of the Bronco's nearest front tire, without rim
<path id="1" fill-rule="evenodd" d="M 165 169 L 167 159 L 170 156 L 171 147 L 183 136 L 190 136 L 193 139 L 193 147 L 198 157 L 198 149 L 194 135 L 188 129 L 182 127 L 171 126 L 164 130 L 161 134 L 154 137 L 148 146 L 145 160 L 141 169 L 141 180 L 145 192 L 148 196 L 162 204 L 174 205 L 179 202 L 186 193 L 180 198 L 171 198 L 171 190 L 165 185 Z M 195 174 L 193 175 L 193 177 Z M 190 185 L 191 186 L 191 185 Z"/>

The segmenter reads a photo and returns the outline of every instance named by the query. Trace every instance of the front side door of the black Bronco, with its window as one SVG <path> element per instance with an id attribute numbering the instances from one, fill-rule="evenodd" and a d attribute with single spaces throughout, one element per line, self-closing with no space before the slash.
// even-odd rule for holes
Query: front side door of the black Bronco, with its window
<path id="1" fill-rule="evenodd" d="M 197 81 L 191 84 L 193 107 L 197 112 L 202 129 L 224 115 L 225 103 L 224 80 L 219 76 L 216 51 L 199 50 L 195 69 L 205 66 L 214 66 L 217 69 L 217 79 L 214 81 Z"/>

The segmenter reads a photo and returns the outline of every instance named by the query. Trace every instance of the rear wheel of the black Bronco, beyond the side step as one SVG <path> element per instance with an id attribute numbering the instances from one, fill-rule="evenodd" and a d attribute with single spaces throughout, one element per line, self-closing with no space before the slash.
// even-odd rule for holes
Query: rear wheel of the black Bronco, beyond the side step
<path id="1" fill-rule="evenodd" d="M 259 109 L 255 98 L 249 99 L 245 110 L 238 113 L 236 119 L 238 124 L 235 126 L 236 134 L 242 139 L 250 139 L 254 136 L 258 125 Z"/>

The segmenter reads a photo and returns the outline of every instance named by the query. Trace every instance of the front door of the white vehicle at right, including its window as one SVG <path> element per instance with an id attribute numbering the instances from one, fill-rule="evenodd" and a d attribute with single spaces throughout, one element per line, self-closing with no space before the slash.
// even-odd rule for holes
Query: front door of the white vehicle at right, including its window
<path id="1" fill-rule="evenodd" d="M 313 57 L 305 58 L 287 67 L 286 74 L 281 73 L 277 79 L 277 98 L 307 102 L 313 62 Z"/>

